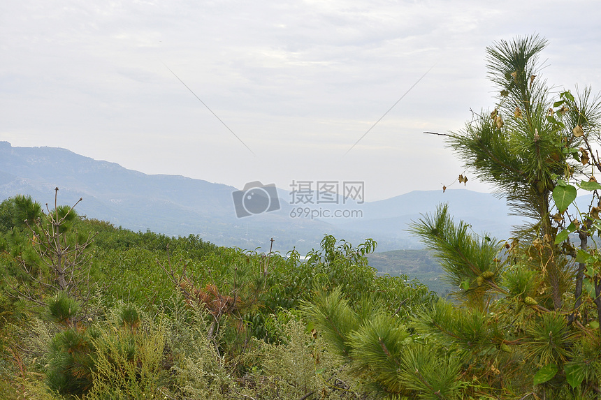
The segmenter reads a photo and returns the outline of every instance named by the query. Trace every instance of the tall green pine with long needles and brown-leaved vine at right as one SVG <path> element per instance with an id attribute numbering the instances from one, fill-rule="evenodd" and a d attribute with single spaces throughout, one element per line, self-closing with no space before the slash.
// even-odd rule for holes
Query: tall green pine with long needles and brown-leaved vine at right
<path id="1" fill-rule="evenodd" d="M 591 172 L 601 169 L 593 151 L 601 104 L 589 88 L 553 93 L 538 62 L 545 46 L 529 36 L 488 47 L 495 108 L 445 135 L 526 224 L 499 241 L 455 222 L 446 205 L 415 221 L 410 230 L 441 260 L 455 290 L 454 302 L 440 299 L 411 320 L 377 309 L 357 318 L 336 292 L 307 308 L 340 356 L 391 399 L 601 394 L 601 253 L 590 246 L 601 230 L 601 207 L 592 207 L 601 185 Z M 569 207 L 577 186 L 593 193 L 584 212 Z"/>

